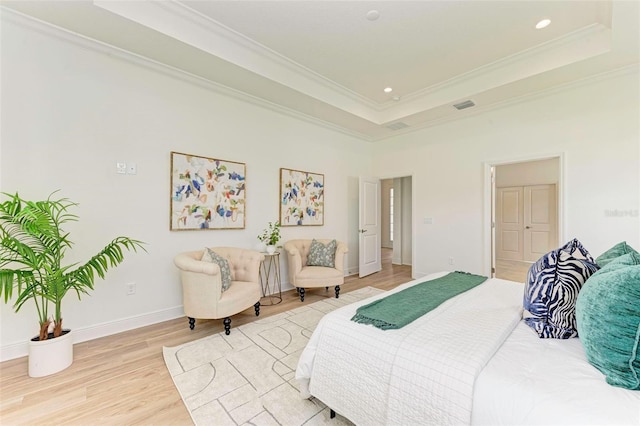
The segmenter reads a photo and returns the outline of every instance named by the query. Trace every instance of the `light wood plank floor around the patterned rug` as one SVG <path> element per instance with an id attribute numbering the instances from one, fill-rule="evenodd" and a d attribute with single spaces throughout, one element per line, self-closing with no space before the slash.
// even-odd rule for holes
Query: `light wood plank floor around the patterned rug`
<path id="1" fill-rule="evenodd" d="M 391 265 L 383 249 L 383 270 L 359 279 L 347 277 L 346 293 L 372 286 L 389 290 L 411 280 L 410 266 Z M 331 289 L 330 289 L 331 290 Z M 332 297 L 324 289 L 307 290 L 304 303 Z M 291 290 L 282 303 L 264 306 L 260 317 L 301 306 Z M 253 308 L 232 317 L 232 329 L 256 319 Z M 48 377 L 30 378 L 27 359 L 0 363 L 0 424 L 189 425 L 191 417 L 162 358 L 163 346 L 177 346 L 223 330 L 221 320 L 186 318 L 166 321 L 74 346 L 74 363 Z"/>

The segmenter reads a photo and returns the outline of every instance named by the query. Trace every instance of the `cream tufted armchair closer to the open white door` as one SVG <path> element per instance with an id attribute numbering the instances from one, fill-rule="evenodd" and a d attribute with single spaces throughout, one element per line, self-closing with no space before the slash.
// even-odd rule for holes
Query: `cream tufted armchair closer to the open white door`
<path id="1" fill-rule="evenodd" d="M 304 302 L 305 288 L 335 286 L 336 299 L 340 297 L 340 285 L 344 284 L 344 255 L 347 253 L 347 245 L 336 241 L 333 266 L 318 266 L 318 263 L 309 262 L 309 251 L 313 240 L 290 240 L 284 244 L 287 253 L 289 280 L 298 290 L 300 301 Z M 329 246 L 334 240 L 316 240 L 322 245 Z M 312 265 L 308 265 L 312 263 Z"/>

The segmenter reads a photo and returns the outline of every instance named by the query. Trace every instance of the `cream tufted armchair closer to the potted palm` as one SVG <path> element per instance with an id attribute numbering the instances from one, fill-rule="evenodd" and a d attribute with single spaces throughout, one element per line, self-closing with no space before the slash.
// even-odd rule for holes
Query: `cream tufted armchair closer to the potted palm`
<path id="1" fill-rule="evenodd" d="M 264 255 L 234 247 L 212 247 L 211 250 L 227 260 L 228 270 L 213 261 L 202 260 L 206 249 L 178 254 L 173 262 L 180 269 L 182 302 L 189 328 L 194 329 L 196 318 L 224 318 L 224 331 L 229 334 L 232 315 L 251 306 L 256 316 L 260 315 L 260 262 Z M 223 291 L 223 278 L 228 277 L 229 272 L 231 283 Z"/>

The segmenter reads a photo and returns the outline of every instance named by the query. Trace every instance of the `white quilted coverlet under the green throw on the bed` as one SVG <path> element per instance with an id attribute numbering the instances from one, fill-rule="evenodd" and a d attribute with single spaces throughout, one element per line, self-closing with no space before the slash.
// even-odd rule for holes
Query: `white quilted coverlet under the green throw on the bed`
<path id="1" fill-rule="evenodd" d="M 490 279 L 399 330 L 350 321 L 358 306 L 387 294 L 340 308 L 300 357 L 301 395 L 356 424 L 469 424 L 475 378 L 520 320 L 522 291 Z"/>

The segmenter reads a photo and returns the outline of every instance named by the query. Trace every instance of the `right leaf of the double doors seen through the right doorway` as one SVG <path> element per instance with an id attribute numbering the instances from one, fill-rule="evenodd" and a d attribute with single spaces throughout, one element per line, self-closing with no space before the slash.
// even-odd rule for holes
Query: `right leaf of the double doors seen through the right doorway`
<path id="1" fill-rule="evenodd" d="M 524 187 L 524 260 L 535 262 L 558 245 L 556 186 Z"/>

